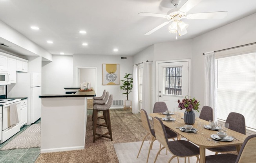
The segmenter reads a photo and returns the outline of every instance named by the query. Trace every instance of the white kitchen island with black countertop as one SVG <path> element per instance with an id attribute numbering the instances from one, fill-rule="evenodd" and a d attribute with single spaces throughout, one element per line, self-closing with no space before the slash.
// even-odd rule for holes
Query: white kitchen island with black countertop
<path id="1" fill-rule="evenodd" d="M 95 91 L 40 95 L 41 153 L 84 149 L 87 98 Z"/>

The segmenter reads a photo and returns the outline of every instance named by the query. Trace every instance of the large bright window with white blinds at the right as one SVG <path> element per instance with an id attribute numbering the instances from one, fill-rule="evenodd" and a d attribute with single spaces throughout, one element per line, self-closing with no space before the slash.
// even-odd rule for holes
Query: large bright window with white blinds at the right
<path id="1" fill-rule="evenodd" d="M 218 118 L 226 120 L 229 112 L 238 112 L 252 129 L 256 129 L 255 55 L 216 59 Z"/>

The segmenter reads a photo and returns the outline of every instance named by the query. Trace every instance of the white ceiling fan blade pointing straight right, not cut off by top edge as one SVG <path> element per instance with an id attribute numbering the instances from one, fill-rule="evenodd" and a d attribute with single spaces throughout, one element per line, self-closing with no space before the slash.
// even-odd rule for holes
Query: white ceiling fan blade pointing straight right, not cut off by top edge
<path id="1" fill-rule="evenodd" d="M 227 16 L 227 11 L 188 14 L 187 19 L 222 19 Z"/>

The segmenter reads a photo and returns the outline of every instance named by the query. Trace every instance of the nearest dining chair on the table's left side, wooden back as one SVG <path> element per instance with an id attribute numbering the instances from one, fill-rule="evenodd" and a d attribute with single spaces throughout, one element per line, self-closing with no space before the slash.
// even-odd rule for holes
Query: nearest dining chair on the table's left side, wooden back
<path id="1" fill-rule="evenodd" d="M 156 162 L 159 153 L 164 148 L 166 148 L 169 152 L 173 154 L 173 156 L 169 159 L 169 163 L 170 161 L 172 161 L 173 158 L 176 158 L 176 157 L 185 158 L 185 162 L 187 157 L 193 157 L 193 156 L 196 156 L 197 161 L 200 160 L 199 148 L 196 145 L 185 140 L 168 141 L 167 134 L 165 131 L 165 126 L 162 120 L 158 117 L 154 117 L 153 121 L 154 121 L 154 129 L 155 129 L 155 138 L 157 139 L 157 141 L 159 141 L 163 145 L 163 147 L 159 149 L 159 151 L 157 152 L 154 163 Z"/>

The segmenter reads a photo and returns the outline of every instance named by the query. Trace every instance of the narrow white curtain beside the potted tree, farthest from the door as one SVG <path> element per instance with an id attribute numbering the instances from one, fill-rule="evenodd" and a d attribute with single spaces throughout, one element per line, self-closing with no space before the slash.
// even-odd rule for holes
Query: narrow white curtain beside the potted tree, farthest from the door
<path id="1" fill-rule="evenodd" d="M 132 83 L 132 113 L 137 114 L 139 112 L 139 96 L 138 96 L 138 75 L 137 65 L 133 65 L 133 83 Z"/>

